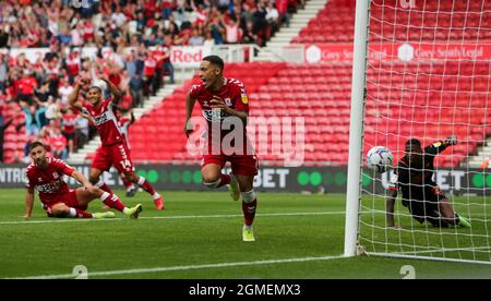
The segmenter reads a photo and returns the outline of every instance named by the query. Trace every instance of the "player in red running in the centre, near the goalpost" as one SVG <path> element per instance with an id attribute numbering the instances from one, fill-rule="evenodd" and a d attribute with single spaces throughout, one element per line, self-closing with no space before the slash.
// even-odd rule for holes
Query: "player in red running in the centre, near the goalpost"
<path id="1" fill-rule="evenodd" d="M 243 84 L 237 80 L 225 79 L 224 61 L 217 56 L 204 57 L 199 75 L 203 81 L 200 85 L 194 85 L 185 99 L 185 124 L 184 132 L 189 137 L 192 132 L 192 124 L 188 122 L 191 118 L 194 104 L 197 100 L 203 110 L 203 116 L 208 124 L 207 150 L 201 164 L 201 174 L 203 183 L 209 189 L 217 189 L 229 184 L 232 198 L 239 200 L 242 196 L 242 212 L 244 216 L 244 227 L 242 230 L 243 241 L 254 241 L 252 222 L 256 209 L 256 196 L 253 190 L 254 176 L 258 174 L 258 159 L 252 152 L 247 149 L 246 143 L 239 146 L 244 150 L 242 154 L 225 154 L 220 147 L 218 154 L 213 152 L 214 145 L 223 145 L 224 131 L 213 134 L 212 121 L 225 122 L 229 117 L 239 118 L 242 122 L 242 134 L 246 137 L 246 124 L 249 115 L 249 104 Z M 218 116 L 219 115 L 219 116 Z M 219 127 L 221 129 L 221 127 Z M 216 141 L 217 137 L 219 141 Z M 237 141 L 236 141 L 237 143 Z M 231 164 L 232 174 L 223 174 L 221 168 L 227 161 Z"/>

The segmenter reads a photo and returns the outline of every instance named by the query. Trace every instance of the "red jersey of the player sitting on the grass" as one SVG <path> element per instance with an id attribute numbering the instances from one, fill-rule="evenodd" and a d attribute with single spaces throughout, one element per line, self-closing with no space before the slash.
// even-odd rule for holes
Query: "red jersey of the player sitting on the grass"
<path id="1" fill-rule="evenodd" d="M 39 200 L 45 205 L 59 202 L 70 192 L 63 176 L 70 176 L 74 171 L 71 166 L 62 160 L 51 157 L 48 157 L 47 160 L 48 167 L 46 169 L 31 164 L 25 171 L 26 186 L 36 189 L 39 192 Z"/>

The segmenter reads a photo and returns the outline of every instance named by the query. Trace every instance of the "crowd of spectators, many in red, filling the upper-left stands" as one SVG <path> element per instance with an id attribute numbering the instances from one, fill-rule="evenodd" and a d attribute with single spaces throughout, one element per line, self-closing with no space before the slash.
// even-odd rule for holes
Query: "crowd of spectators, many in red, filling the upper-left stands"
<path id="1" fill-rule="evenodd" d="M 68 104 L 77 76 L 108 77 L 123 92 L 123 110 L 140 107 L 164 85 L 165 75 L 173 83 L 171 46 L 264 46 L 303 1 L 2 0 L 0 143 L 5 129 L 14 127 L 26 143 L 40 139 L 64 159 L 95 133 Z M 22 52 L 11 56 L 14 48 L 49 51 L 33 61 Z M 96 50 L 84 56 L 83 48 Z M 24 122 L 3 118 L 9 103 L 19 104 Z"/>

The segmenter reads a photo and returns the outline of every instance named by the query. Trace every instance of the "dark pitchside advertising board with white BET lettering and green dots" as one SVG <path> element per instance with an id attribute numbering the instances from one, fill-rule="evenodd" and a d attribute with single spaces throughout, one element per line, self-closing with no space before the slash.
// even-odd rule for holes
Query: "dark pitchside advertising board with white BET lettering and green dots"
<path id="1" fill-rule="evenodd" d="M 74 167 L 88 176 L 88 165 Z M 1 165 L 0 188 L 23 188 L 25 168 L 24 165 Z M 136 170 L 158 190 L 206 190 L 201 183 L 199 166 L 141 165 L 136 166 Z M 225 171 L 229 172 L 229 169 L 225 168 Z M 391 170 L 375 177 L 363 173 L 363 192 L 384 195 L 392 172 Z M 450 194 L 491 194 L 491 172 L 482 169 L 439 169 L 434 177 L 440 188 Z M 116 170 L 105 172 L 104 180 L 109 186 L 122 188 Z M 254 188 L 263 192 L 346 193 L 346 167 L 262 166 L 255 178 Z M 76 185 L 73 179 L 69 179 L 69 183 L 72 186 Z"/>

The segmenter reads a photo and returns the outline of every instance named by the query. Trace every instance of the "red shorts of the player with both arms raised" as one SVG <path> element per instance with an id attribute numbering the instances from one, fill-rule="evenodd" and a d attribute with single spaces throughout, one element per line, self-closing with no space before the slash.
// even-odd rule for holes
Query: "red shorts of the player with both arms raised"
<path id="1" fill-rule="evenodd" d="M 113 166 L 119 173 L 134 171 L 130 152 L 124 143 L 117 143 L 97 148 L 92 168 L 108 171 Z"/>

